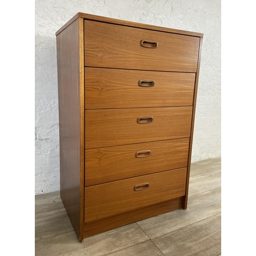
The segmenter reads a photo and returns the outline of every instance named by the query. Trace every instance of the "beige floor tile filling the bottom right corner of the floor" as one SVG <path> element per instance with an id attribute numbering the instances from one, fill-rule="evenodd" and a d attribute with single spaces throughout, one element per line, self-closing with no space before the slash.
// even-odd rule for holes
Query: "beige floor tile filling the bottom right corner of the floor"
<path id="1" fill-rule="evenodd" d="M 217 256 L 221 253 L 221 214 L 152 241 L 165 256 Z"/>

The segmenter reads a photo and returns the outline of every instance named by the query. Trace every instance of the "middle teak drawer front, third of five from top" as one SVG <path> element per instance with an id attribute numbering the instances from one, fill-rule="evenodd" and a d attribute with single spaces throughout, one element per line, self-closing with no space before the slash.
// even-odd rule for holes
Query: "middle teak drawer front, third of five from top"
<path id="1" fill-rule="evenodd" d="M 86 149 L 190 136 L 191 106 L 86 110 Z"/>

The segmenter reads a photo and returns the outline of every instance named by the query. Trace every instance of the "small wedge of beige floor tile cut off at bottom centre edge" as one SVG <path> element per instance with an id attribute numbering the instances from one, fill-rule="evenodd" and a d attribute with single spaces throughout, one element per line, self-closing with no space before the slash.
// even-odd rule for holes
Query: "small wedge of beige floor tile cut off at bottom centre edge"
<path id="1" fill-rule="evenodd" d="M 151 241 L 136 244 L 129 248 L 114 252 L 108 256 L 164 256 Z"/>

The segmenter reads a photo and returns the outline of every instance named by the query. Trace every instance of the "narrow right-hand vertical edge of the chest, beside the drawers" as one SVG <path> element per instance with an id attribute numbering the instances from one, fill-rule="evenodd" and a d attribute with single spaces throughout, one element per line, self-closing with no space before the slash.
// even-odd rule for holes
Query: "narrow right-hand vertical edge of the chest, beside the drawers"
<path id="1" fill-rule="evenodd" d="M 203 38 L 200 38 L 200 45 L 199 45 L 199 52 L 198 52 L 198 63 L 197 63 L 197 73 L 196 73 L 195 90 L 194 90 L 194 98 L 193 98 L 193 112 L 192 112 L 192 120 L 191 120 L 189 152 L 188 152 L 188 160 L 187 160 L 186 194 L 185 194 L 184 202 L 183 202 L 183 208 L 184 209 L 187 208 L 188 186 L 189 186 L 190 165 L 191 165 L 191 155 L 192 155 L 192 146 L 193 146 L 194 124 L 195 124 L 195 117 L 196 117 L 197 89 L 198 89 L 198 81 L 199 81 L 202 43 L 203 43 Z"/>

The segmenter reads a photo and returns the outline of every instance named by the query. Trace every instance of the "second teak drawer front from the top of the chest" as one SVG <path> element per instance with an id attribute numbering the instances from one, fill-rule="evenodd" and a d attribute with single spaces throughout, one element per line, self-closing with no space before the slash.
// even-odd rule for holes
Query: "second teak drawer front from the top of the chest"
<path id="1" fill-rule="evenodd" d="M 195 74 L 86 68 L 86 109 L 193 105 Z"/>

